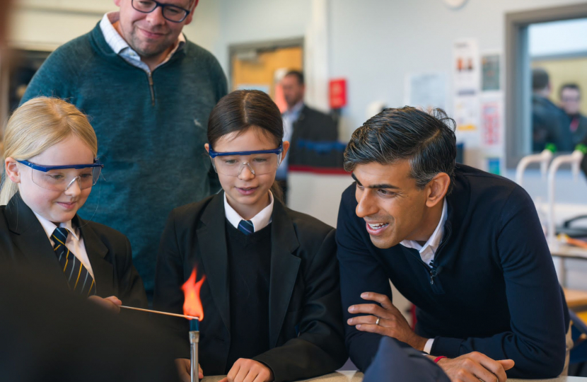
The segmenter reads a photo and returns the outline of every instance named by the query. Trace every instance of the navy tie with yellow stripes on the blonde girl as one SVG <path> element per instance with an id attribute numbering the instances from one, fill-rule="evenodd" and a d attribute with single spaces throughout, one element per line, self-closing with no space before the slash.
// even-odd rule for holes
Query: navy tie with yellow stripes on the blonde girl
<path id="1" fill-rule="evenodd" d="M 67 228 L 55 228 L 52 235 L 52 239 L 55 243 L 53 245 L 53 250 L 59 259 L 59 264 L 61 264 L 63 268 L 67 283 L 69 284 L 69 289 L 79 294 L 91 296 L 95 294 L 94 278 L 90 272 L 86 270 L 86 267 L 83 266 L 81 261 L 79 261 L 79 259 L 71 253 L 69 248 L 65 246 L 68 233 L 69 231 L 67 231 Z"/>

